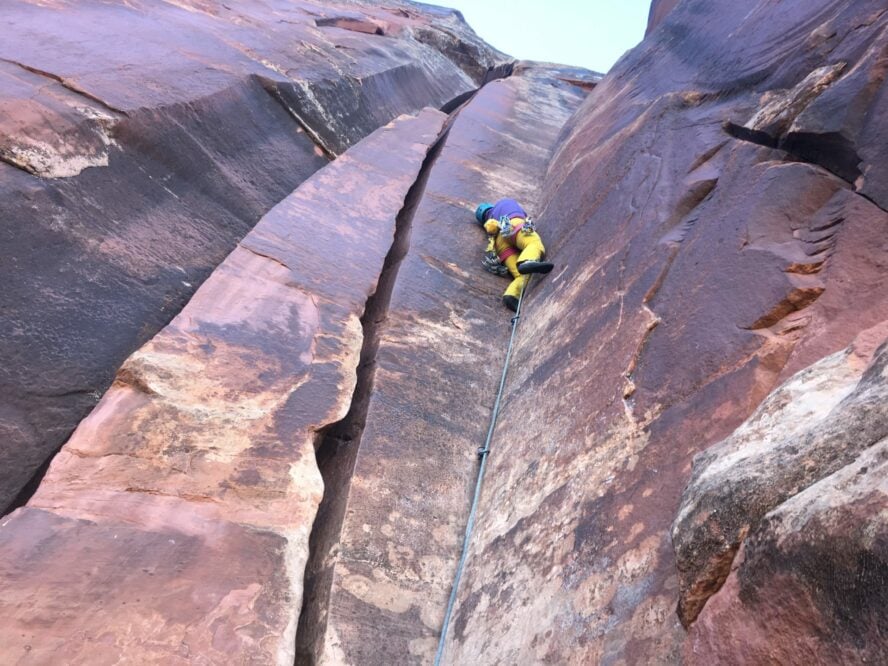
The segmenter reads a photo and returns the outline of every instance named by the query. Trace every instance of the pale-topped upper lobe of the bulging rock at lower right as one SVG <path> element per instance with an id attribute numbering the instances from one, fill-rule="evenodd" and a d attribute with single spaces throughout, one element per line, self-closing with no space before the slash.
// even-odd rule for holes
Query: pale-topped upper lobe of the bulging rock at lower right
<path id="1" fill-rule="evenodd" d="M 765 514 L 888 436 L 888 353 L 863 373 L 868 351 L 851 347 L 798 373 L 694 460 L 672 529 L 686 625 L 724 583 Z"/>

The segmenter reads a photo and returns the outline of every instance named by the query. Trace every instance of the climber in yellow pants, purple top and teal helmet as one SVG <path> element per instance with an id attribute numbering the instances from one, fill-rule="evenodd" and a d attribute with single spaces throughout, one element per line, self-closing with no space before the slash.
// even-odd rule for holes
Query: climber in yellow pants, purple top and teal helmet
<path id="1" fill-rule="evenodd" d="M 515 312 L 531 273 L 548 273 L 555 266 L 543 261 L 546 248 L 524 209 L 514 199 L 482 203 L 475 219 L 487 232 L 484 269 L 496 275 L 512 276 L 503 294 L 503 305 Z"/>

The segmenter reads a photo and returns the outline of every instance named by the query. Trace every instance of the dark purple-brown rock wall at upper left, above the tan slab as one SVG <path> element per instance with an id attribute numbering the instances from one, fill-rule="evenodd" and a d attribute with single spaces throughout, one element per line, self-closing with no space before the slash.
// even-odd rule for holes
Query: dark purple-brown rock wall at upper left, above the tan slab
<path id="1" fill-rule="evenodd" d="M 504 59 L 400 1 L 11 0 L 0 22 L 0 510 L 271 206 Z"/>

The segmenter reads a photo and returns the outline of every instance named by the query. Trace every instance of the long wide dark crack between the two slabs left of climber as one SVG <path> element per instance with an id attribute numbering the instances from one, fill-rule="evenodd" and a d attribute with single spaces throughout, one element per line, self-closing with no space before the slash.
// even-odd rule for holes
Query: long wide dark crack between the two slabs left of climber
<path id="1" fill-rule="evenodd" d="M 398 269 L 410 247 L 413 216 L 422 200 L 432 167 L 447 140 L 452 116 L 441 135 L 429 150 L 417 176 L 407 192 L 404 206 L 395 223 L 395 237 L 385 258 L 376 291 L 367 300 L 361 327 L 364 342 L 357 370 L 357 383 L 351 407 L 345 418 L 318 433 L 315 455 L 324 479 L 324 498 L 318 509 L 309 539 L 309 560 L 305 571 L 303 606 L 296 630 L 296 664 L 316 663 L 322 647 L 327 623 L 327 606 L 333 583 L 339 533 L 348 504 L 352 472 L 360 450 L 361 435 L 367 420 L 370 397 L 376 374 L 381 325 L 386 319 Z"/>

